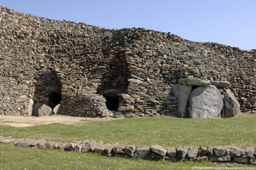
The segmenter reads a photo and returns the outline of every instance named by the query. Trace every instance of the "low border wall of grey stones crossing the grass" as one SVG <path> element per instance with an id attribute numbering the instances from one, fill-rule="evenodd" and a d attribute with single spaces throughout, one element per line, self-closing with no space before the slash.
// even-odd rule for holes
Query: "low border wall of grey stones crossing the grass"
<path id="1" fill-rule="evenodd" d="M 0 143 L 10 146 L 30 147 L 30 148 L 54 148 L 68 151 L 97 152 L 106 156 L 121 156 L 125 158 L 147 158 L 152 160 L 168 160 L 178 162 L 181 160 L 207 160 L 211 162 L 233 161 L 237 163 L 250 163 L 256 165 L 256 147 L 236 147 L 236 146 L 178 146 L 163 147 L 160 145 L 135 146 L 106 143 L 103 141 L 74 141 L 72 143 L 45 141 L 44 139 L 11 139 L 11 137 L 0 136 Z"/>

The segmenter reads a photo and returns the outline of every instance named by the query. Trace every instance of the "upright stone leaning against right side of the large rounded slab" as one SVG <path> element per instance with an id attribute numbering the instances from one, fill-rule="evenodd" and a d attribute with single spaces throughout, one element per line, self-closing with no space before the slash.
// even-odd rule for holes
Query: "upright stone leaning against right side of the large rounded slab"
<path id="1" fill-rule="evenodd" d="M 240 113 L 240 104 L 230 89 L 223 89 L 226 117 L 233 117 Z"/>

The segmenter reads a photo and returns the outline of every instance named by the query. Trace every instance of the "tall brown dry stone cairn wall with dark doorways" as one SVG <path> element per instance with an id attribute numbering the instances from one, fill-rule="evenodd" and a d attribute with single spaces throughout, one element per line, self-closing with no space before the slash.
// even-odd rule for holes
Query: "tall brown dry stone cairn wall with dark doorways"
<path id="1" fill-rule="evenodd" d="M 27 116 L 32 99 L 33 114 L 60 100 L 75 116 L 182 117 L 171 86 L 189 77 L 230 82 L 240 111 L 254 113 L 255 62 L 256 50 L 0 7 L 0 114 Z"/>

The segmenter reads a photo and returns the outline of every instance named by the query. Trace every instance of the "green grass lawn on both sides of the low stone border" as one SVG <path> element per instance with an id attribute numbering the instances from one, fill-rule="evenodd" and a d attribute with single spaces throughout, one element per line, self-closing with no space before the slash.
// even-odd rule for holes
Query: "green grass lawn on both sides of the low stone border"
<path id="1" fill-rule="evenodd" d="M 76 125 L 49 124 L 14 128 L 0 125 L 0 136 L 49 139 L 51 141 L 103 140 L 104 143 L 151 146 L 256 146 L 256 114 L 226 119 L 181 119 L 168 117 L 125 118 L 111 121 L 81 121 Z M 144 159 L 108 158 L 96 153 L 29 149 L 0 144 L 3 169 L 192 169 L 227 167 L 208 162 L 162 162 Z M 83 167 L 82 167 L 83 166 Z M 231 167 L 248 167 L 233 164 Z M 255 166 L 252 166 L 255 167 Z"/>

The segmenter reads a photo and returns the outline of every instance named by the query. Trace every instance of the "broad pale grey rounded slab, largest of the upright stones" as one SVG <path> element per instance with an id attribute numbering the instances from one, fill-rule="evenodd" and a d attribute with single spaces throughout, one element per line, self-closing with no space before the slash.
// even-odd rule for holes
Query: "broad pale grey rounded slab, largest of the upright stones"
<path id="1" fill-rule="evenodd" d="M 222 107 L 222 95 L 215 86 L 197 87 L 189 96 L 190 118 L 219 118 Z"/>

